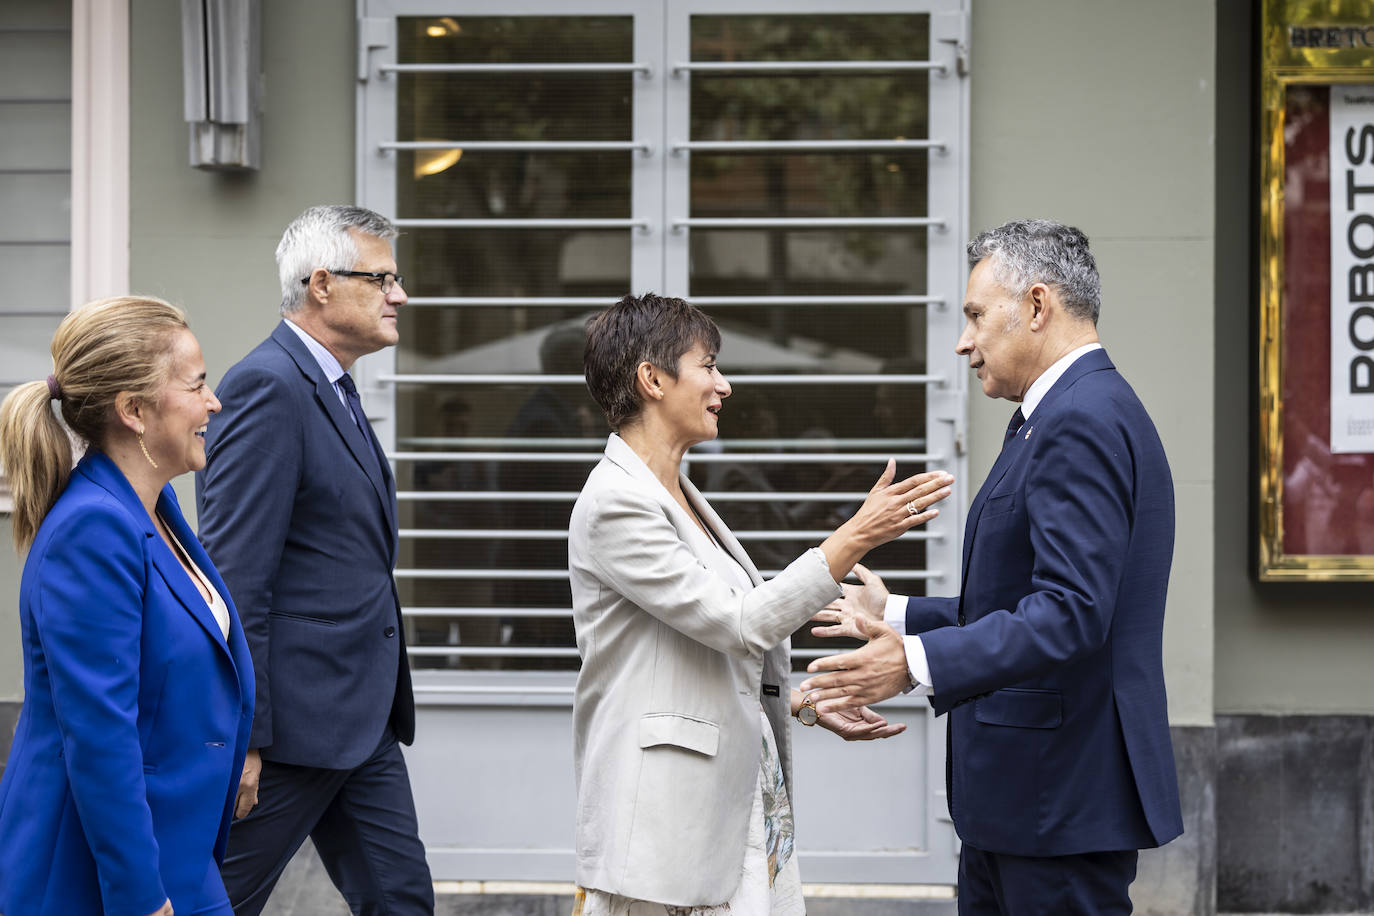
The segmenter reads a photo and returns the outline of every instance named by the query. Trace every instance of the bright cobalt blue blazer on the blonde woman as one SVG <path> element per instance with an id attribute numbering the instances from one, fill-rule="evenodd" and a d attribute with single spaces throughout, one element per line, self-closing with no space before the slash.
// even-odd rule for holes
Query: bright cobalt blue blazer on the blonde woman
<path id="1" fill-rule="evenodd" d="M 158 512 L 220 591 L 172 488 Z M 220 883 L 253 669 L 129 481 L 89 452 L 19 585 L 23 711 L 0 783 L 0 912 L 228 912 Z"/>

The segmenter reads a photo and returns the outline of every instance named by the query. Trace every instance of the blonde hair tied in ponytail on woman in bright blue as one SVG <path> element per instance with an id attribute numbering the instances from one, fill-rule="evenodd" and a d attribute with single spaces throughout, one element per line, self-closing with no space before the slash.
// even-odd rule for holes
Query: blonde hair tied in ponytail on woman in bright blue
<path id="1" fill-rule="evenodd" d="M 14 541 L 21 552 L 33 544 L 71 477 L 66 430 L 99 449 L 121 391 L 155 401 L 173 334 L 185 327 L 181 309 L 151 297 L 82 305 L 52 335 L 52 385 L 26 382 L 0 404 L 0 466 L 14 494 Z M 60 402 L 66 430 L 52 398 Z"/>

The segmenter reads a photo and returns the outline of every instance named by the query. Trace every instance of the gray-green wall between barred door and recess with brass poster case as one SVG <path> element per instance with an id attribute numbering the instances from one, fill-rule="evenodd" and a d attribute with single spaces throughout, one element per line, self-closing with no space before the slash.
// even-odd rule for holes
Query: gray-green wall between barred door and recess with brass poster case
<path id="1" fill-rule="evenodd" d="M 1088 233 L 1103 345 L 1173 470 L 1176 725 L 1212 722 L 1213 16 L 1194 0 L 974 0 L 973 15 L 971 228 L 1037 216 Z M 1013 408 L 970 390 L 977 486 Z"/>

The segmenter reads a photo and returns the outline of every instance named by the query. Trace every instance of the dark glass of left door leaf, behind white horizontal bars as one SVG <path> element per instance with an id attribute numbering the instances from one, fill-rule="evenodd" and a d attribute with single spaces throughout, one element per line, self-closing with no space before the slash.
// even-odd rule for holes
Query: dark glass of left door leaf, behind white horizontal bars
<path id="1" fill-rule="evenodd" d="M 416 16 L 401 18 L 398 26 L 403 63 L 632 60 L 629 16 Z M 629 73 L 400 74 L 396 137 L 631 140 L 632 92 Z M 633 157 L 628 150 L 401 150 L 397 216 L 625 220 Z M 629 288 L 629 232 L 407 229 L 397 258 L 412 297 L 513 301 L 412 306 L 401 324 L 397 372 L 581 375 L 587 308 L 526 306 L 519 299 L 613 302 Z M 397 449 L 434 453 L 396 464 L 398 489 L 415 494 L 401 501 L 408 534 L 398 574 L 401 602 L 411 612 L 409 644 L 419 650 L 414 667 L 577 666 L 567 516 L 605 437 L 605 419 L 580 383 L 397 387 Z M 588 457 L 569 463 L 492 456 L 569 450 Z"/>

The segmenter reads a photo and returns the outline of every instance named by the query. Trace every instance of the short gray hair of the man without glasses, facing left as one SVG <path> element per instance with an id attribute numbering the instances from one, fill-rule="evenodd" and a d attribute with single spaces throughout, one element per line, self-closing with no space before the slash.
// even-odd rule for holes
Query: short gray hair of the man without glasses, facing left
<path id="1" fill-rule="evenodd" d="M 969 243 L 970 269 L 985 258 L 993 258 L 992 275 L 1013 297 L 1020 299 L 1044 283 L 1059 294 L 1069 314 L 1098 323 L 1102 282 L 1081 231 L 1052 220 L 1013 220 Z"/>

